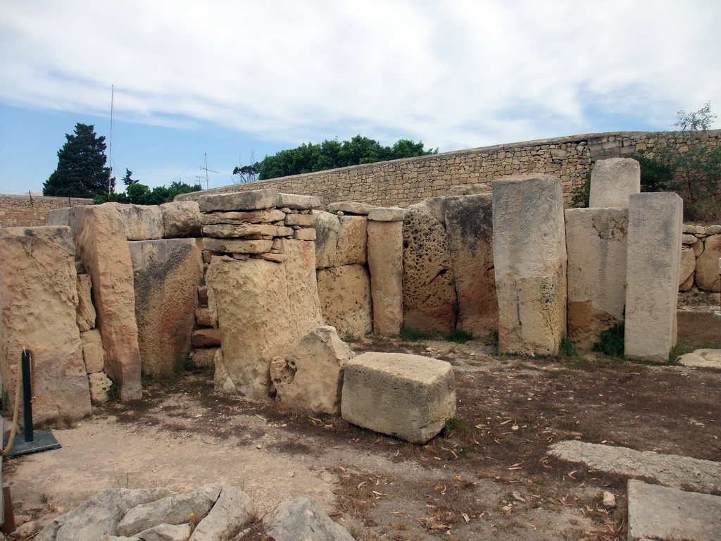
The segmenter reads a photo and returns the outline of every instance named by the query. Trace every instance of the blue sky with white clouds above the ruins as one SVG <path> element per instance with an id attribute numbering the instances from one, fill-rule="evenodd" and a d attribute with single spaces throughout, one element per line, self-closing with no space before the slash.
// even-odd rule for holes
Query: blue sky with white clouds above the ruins
<path id="1" fill-rule="evenodd" d="M 0 0 L 0 193 L 42 191 L 76 123 L 118 179 L 203 188 L 206 157 L 216 188 L 358 134 L 665 131 L 721 110 L 720 27 L 718 0 Z"/>

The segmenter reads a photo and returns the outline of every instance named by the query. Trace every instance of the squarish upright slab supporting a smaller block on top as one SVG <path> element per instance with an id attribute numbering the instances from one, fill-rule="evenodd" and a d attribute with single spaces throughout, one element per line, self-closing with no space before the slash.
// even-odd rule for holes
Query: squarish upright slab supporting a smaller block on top
<path id="1" fill-rule="evenodd" d="M 624 319 L 628 208 L 568 208 L 568 338 L 589 350 Z"/>

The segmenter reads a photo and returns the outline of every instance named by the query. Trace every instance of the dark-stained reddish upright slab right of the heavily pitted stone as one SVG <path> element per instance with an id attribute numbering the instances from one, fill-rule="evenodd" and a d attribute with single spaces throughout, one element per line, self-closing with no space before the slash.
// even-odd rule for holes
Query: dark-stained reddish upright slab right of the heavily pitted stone
<path id="1" fill-rule="evenodd" d="M 456 327 L 488 340 L 498 329 L 491 195 L 448 197 L 443 205 L 458 294 Z"/>

